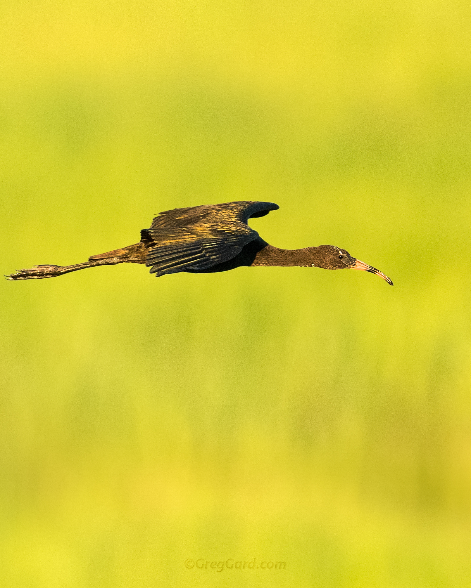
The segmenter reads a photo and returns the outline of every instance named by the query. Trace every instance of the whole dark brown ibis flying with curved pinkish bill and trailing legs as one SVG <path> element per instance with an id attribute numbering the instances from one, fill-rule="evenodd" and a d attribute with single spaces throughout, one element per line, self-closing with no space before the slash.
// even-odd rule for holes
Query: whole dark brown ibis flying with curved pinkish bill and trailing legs
<path id="1" fill-rule="evenodd" d="M 240 266 L 301 266 L 360 269 L 376 273 L 393 285 L 384 273 L 334 245 L 304 249 L 268 245 L 247 222 L 278 208 L 273 202 L 226 202 L 175 208 L 161 212 L 152 220 L 150 229 L 141 230 L 139 243 L 92 255 L 84 263 L 36 265 L 5 277 L 9 280 L 54 278 L 79 269 L 117 263 L 144 263 L 157 277 L 178 272 L 225 272 Z"/>

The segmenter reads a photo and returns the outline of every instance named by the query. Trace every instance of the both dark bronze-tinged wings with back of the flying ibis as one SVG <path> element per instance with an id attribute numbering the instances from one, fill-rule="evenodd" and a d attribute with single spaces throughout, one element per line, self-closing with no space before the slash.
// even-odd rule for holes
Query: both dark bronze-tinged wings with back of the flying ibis
<path id="1" fill-rule="evenodd" d="M 227 202 L 161 212 L 150 229 L 141 231 L 141 241 L 149 248 L 145 265 L 162 276 L 233 259 L 258 238 L 247 220 L 277 208 L 271 202 Z"/>

